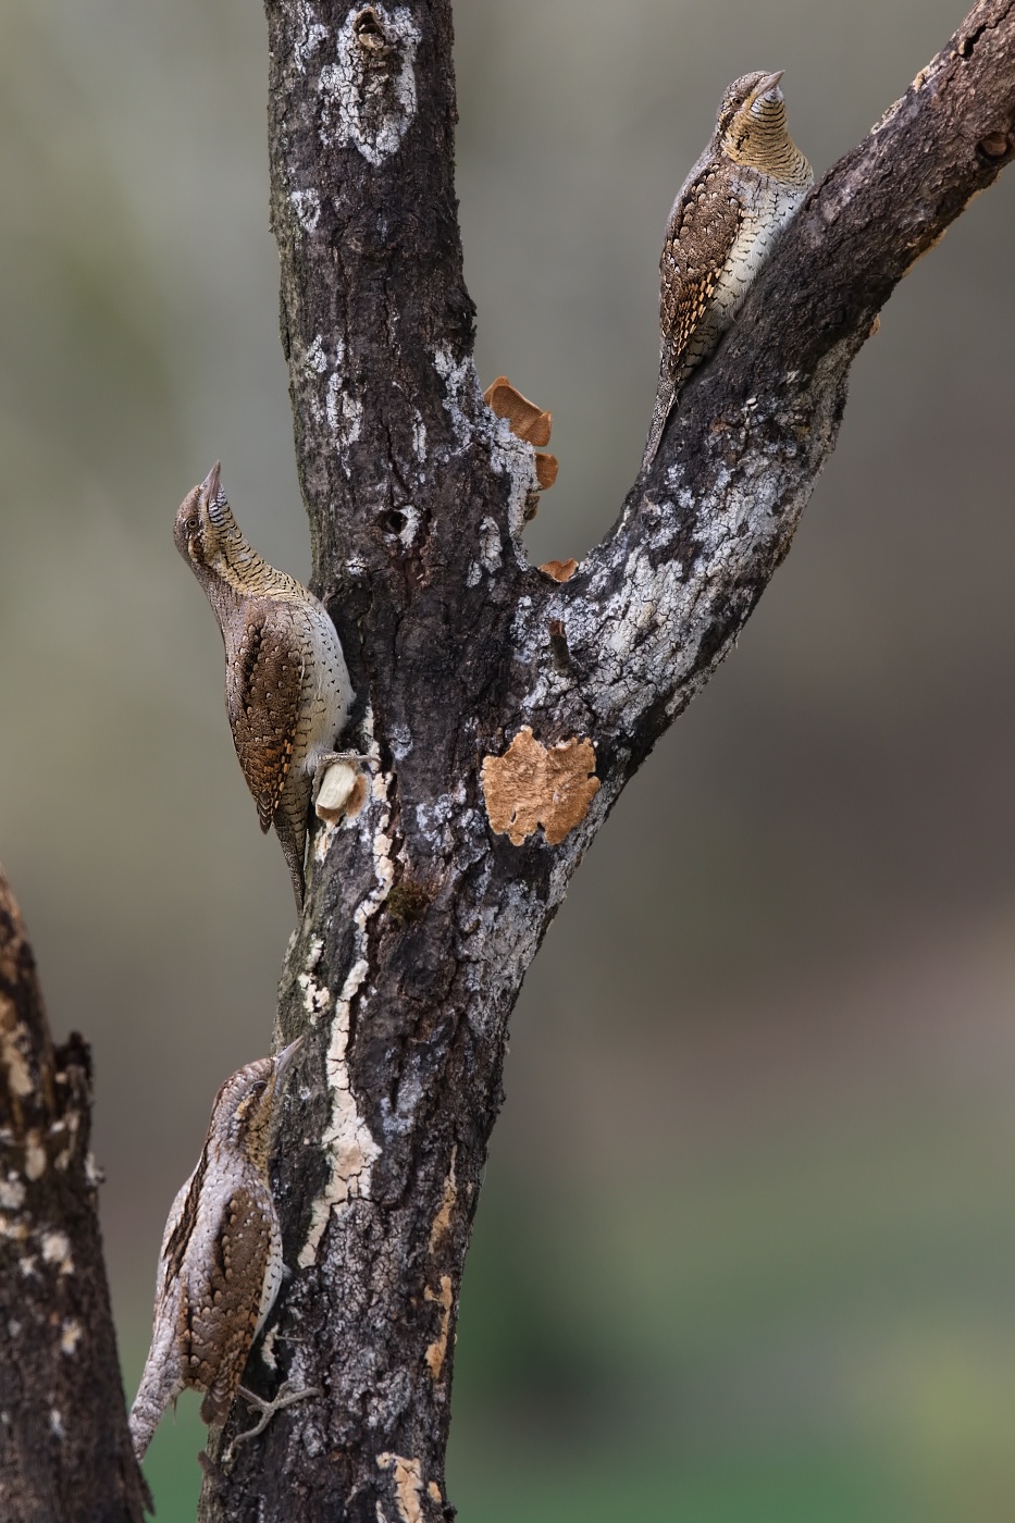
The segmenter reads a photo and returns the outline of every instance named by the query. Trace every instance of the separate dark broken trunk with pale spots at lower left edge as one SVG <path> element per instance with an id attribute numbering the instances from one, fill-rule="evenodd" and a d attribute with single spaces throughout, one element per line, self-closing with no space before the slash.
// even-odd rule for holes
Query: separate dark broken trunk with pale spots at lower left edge
<path id="1" fill-rule="evenodd" d="M 142 1523 L 88 1151 L 91 1057 L 55 1048 L 0 871 L 0 1515 Z"/>

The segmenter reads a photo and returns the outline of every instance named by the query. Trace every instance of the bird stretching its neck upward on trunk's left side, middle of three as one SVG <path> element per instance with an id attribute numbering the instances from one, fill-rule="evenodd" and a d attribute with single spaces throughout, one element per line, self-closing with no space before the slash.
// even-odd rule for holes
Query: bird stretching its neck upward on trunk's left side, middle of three
<path id="1" fill-rule="evenodd" d="M 226 708 L 261 829 L 274 825 L 303 908 L 306 812 L 352 704 L 325 605 L 244 539 L 212 466 L 180 504 L 177 550 L 204 588 L 226 646 Z"/>

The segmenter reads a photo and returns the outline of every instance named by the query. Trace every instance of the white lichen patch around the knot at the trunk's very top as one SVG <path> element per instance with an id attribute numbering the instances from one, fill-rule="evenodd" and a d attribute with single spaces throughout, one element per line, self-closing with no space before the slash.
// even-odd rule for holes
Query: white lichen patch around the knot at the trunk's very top
<path id="1" fill-rule="evenodd" d="M 379 29 L 370 44 L 361 34 L 366 8 L 351 11 L 335 34 L 335 59 L 320 72 L 320 139 L 326 148 L 352 143 L 376 166 L 401 146 L 416 116 L 419 29 L 405 6 L 369 9 Z"/>

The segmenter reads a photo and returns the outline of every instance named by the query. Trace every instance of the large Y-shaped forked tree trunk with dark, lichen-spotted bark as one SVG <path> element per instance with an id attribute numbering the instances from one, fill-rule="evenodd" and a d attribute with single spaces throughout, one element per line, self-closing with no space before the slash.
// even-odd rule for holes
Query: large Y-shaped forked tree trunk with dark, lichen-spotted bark
<path id="1" fill-rule="evenodd" d="M 454 1511 L 457 1293 L 524 972 L 622 787 L 789 550 L 878 311 L 1012 157 L 1015 0 L 977 5 L 815 187 L 567 582 L 529 565 L 533 452 L 472 369 L 450 0 L 267 15 L 314 589 L 372 765 L 363 807 L 317 825 L 283 970 L 277 1040 L 308 1034 L 276 1159 L 294 1273 L 270 1366 L 248 1372 L 264 1395 L 283 1377 L 323 1395 L 219 1465 L 236 1410 L 201 1517 L 433 1523 Z M 483 765 L 509 754 L 494 816 Z M 564 757 L 584 766 L 568 787 L 597 786 L 558 835 Z"/>

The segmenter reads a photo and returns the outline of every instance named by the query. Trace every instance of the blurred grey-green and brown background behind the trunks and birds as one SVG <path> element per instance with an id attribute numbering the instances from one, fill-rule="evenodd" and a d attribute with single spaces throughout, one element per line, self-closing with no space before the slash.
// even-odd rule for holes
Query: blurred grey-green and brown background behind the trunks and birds
<path id="1" fill-rule="evenodd" d="M 479 369 L 555 414 L 533 556 L 637 468 L 725 82 L 818 174 L 963 0 L 462 0 Z M 0 857 L 94 1043 L 125 1384 L 293 905 L 171 538 L 216 457 L 308 573 L 248 0 L 0 0 Z M 614 810 L 512 1023 L 463 1290 L 463 1523 L 1015 1517 L 1015 178 L 860 356 L 792 556 Z M 194 1517 L 197 1401 L 155 1438 Z"/>

